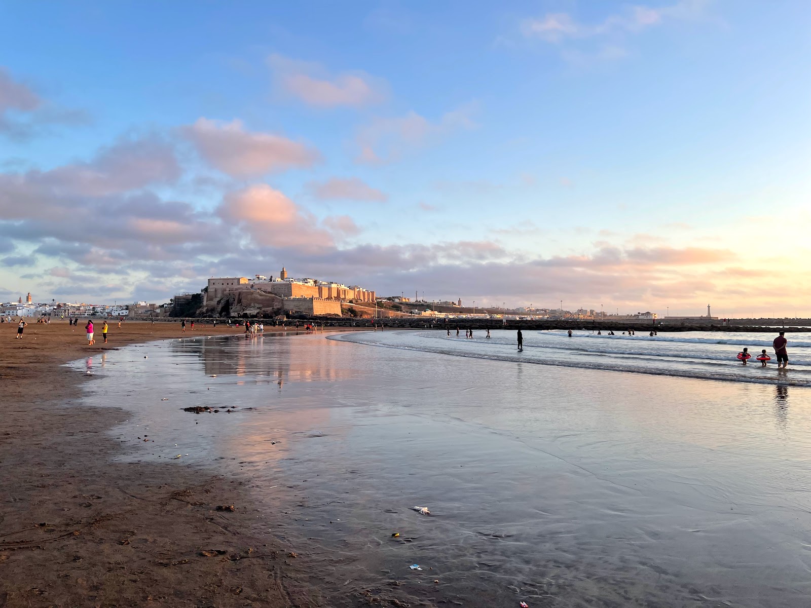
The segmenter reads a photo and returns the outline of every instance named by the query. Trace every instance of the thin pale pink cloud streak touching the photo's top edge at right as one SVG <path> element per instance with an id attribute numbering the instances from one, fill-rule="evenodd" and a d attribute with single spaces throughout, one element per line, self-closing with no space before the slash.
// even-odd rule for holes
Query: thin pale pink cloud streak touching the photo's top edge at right
<path id="1" fill-rule="evenodd" d="M 547 13 L 543 17 L 523 19 L 521 32 L 528 38 L 552 44 L 618 32 L 642 32 L 668 19 L 696 19 L 707 3 L 707 0 L 681 0 L 671 6 L 629 6 L 622 14 L 609 15 L 598 24 L 579 23 L 568 13 Z"/>

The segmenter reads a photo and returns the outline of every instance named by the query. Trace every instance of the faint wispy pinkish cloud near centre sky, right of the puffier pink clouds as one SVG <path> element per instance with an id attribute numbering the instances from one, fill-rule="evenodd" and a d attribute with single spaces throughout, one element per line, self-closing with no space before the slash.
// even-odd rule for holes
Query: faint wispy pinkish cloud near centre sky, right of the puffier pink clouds
<path id="1" fill-rule="evenodd" d="M 358 162 L 378 164 L 397 160 L 404 152 L 421 148 L 461 129 L 473 129 L 472 115 L 477 105 L 470 104 L 444 113 L 431 122 L 411 111 L 404 116 L 373 118 L 358 129 Z"/>

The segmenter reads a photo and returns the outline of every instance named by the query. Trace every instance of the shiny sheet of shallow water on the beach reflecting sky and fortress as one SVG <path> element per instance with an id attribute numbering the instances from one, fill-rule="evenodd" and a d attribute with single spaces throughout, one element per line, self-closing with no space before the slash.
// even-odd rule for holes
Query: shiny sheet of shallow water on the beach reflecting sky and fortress
<path id="1" fill-rule="evenodd" d="M 426 334 L 349 337 L 444 341 Z M 491 347 L 475 341 L 458 348 Z M 530 606 L 809 603 L 805 387 L 323 336 L 173 340 L 93 369 L 88 403 L 131 412 L 115 429 L 128 459 L 180 453 L 246 475 L 274 524 L 290 512 L 273 533 L 318 539 L 312 554 L 333 556 L 320 579 L 346 592 L 394 578 L 414 597 L 479 605 L 520 588 Z M 435 570 L 418 578 L 409 563 Z"/>

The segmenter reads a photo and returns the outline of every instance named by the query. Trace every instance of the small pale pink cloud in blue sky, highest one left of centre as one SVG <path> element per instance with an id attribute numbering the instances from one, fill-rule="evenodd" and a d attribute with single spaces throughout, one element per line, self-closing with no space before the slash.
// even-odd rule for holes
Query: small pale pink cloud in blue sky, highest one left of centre
<path id="1" fill-rule="evenodd" d="M 316 63 L 277 54 L 268 57 L 268 66 L 283 92 L 317 108 L 357 108 L 386 97 L 384 82 L 360 71 L 328 75 Z"/>

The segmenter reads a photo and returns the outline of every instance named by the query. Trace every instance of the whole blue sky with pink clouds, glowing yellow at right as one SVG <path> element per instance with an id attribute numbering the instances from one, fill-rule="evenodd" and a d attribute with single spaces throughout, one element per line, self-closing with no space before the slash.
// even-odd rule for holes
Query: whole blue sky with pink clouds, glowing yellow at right
<path id="1" fill-rule="evenodd" d="M 0 301 L 811 316 L 811 3 L 0 2 Z"/>

